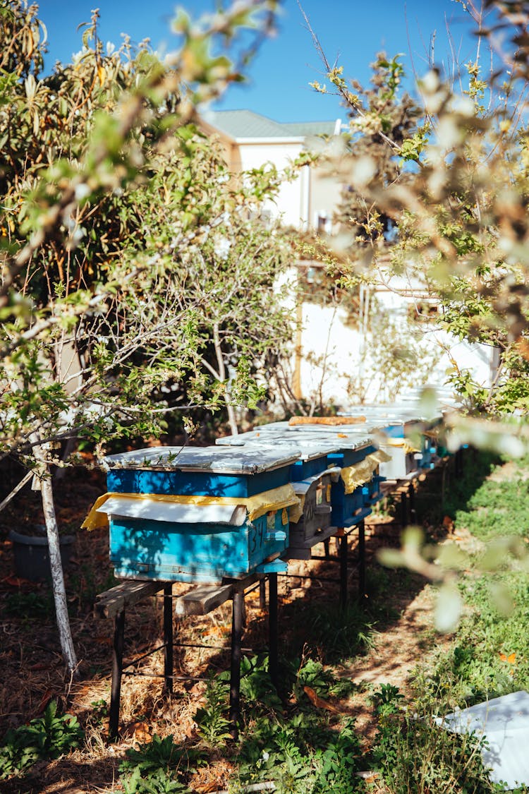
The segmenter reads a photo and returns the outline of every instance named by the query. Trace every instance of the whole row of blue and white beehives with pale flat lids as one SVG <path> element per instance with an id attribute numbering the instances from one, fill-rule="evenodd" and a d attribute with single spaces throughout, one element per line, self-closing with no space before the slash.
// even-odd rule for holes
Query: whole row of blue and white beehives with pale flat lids
<path id="1" fill-rule="evenodd" d="M 382 480 L 434 464 L 434 423 L 405 410 L 362 414 L 361 423 L 274 422 L 214 447 L 110 456 L 109 492 L 85 525 L 108 520 L 122 578 L 220 583 L 286 570 L 369 515 Z"/>

